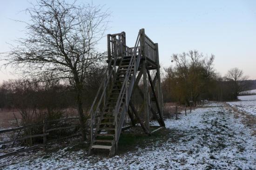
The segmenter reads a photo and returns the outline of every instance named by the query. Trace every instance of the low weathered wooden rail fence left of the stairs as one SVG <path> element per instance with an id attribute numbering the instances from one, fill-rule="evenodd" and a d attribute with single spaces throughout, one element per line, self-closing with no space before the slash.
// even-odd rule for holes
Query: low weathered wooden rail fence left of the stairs
<path id="1" fill-rule="evenodd" d="M 12 152 L 8 152 L 7 154 L 1 155 L 0 159 L 4 158 L 4 157 L 16 155 L 17 153 L 20 153 L 20 152 L 26 152 L 26 151 L 34 150 L 34 149 L 38 149 L 38 148 L 43 148 L 44 150 L 46 150 L 47 143 L 58 141 L 58 140 L 63 140 L 63 139 L 70 138 L 70 137 L 80 136 L 81 133 L 78 131 L 77 133 L 72 134 L 72 135 L 68 135 L 68 136 L 64 136 L 64 137 L 62 136 L 62 137 L 54 138 L 51 140 L 47 140 L 47 136 L 49 135 L 50 132 L 58 131 L 58 130 L 79 128 L 79 126 L 80 126 L 79 123 L 74 124 L 74 122 L 68 122 L 71 124 L 73 123 L 74 125 L 66 126 L 66 127 L 54 127 L 54 128 L 49 127 L 49 128 L 47 128 L 50 123 L 58 123 L 58 122 L 63 123 L 64 121 L 66 121 L 65 123 L 67 123 L 67 121 L 75 121 L 75 120 L 78 120 L 78 117 L 61 118 L 61 119 L 54 119 L 54 120 L 49 120 L 49 121 L 44 120 L 42 123 L 39 123 L 39 124 L 30 124 L 30 125 L 26 125 L 26 126 L 12 128 L 12 129 L 0 130 L 0 135 L 3 135 L 3 134 L 11 133 L 11 132 L 15 133 L 17 131 L 31 131 L 31 129 L 36 128 L 36 127 L 38 129 L 42 129 L 40 134 L 29 134 L 29 135 L 21 136 L 21 137 L 13 137 L 12 139 L 7 140 L 7 141 L 0 141 L 0 145 L 11 144 L 16 141 L 25 141 L 27 139 L 30 139 L 30 141 L 32 141 L 32 139 L 35 137 L 42 137 L 42 141 L 43 141 L 43 144 L 35 144 L 35 145 L 33 145 L 31 142 L 30 147 L 27 147 L 27 148 L 21 147 L 20 149 L 16 149 Z"/>

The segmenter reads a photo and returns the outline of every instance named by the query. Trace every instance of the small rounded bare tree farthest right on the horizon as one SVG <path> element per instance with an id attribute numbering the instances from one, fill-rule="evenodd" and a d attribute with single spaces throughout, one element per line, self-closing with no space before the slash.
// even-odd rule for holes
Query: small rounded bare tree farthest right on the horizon
<path id="1" fill-rule="evenodd" d="M 229 88 L 232 90 L 233 99 L 237 99 L 240 92 L 247 90 L 247 83 L 244 81 L 248 77 L 244 76 L 243 70 L 239 68 L 231 68 L 225 76 L 225 79 L 229 81 Z"/>

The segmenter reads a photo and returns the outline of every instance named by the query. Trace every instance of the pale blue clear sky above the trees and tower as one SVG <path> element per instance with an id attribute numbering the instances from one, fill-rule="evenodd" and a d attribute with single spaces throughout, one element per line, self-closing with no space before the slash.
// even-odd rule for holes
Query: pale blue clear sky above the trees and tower
<path id="1" fill-rule="evenodd" d="M 30 0 L 33 2 L 34 0 Z M 78 0 L 78 2 L 86 2 Z M 90 2 L 90 1 L 89 1 Z M 172 53 L 198 50 L 216 56 L 214 65 L 222 75 L 232 67 L 256 79 L 256 0 L 93 0 L 111 11 L 106 34 L 126 32 L 134 46 L 139 29 L 159 46 L 162 66 L 171 65 Z M 29 20 L 27 0 L 0 0 L 0 52 L 7 52 L 14 39 L 24 36 Z M 98 48 L 107 50 L 107 38 Z M 0 62 L 2 65 L 2 62 Z M 0 70 L 0 82 L 17 78 Z"/>

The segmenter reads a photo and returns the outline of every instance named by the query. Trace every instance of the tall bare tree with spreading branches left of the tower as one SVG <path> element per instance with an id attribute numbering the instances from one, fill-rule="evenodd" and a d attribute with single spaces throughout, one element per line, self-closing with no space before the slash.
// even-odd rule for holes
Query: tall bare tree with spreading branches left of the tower
<path id="1" fill-rule="evenodd" d="M 93 4 L 68 4 L 65 0 L 38 0 L 26 10 L 31 20 L 26 22 L 26 38 L 6 56 L 6 65 L 26 76 L 41 74 L 70 83 L 76 92 L 76 103 L 85 137 L 85 117 L 82 90 L 85 80 L 99 71 L 105 52 L 96 45 L 108 24 L 108 11 Z"/>

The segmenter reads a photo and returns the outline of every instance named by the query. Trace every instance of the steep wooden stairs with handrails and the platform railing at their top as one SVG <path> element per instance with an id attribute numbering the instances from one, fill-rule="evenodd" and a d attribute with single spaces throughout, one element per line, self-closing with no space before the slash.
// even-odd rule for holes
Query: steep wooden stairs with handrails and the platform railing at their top
<path id="1" fill-rule="evenodd" d="M 115 39 L 116 36 L 119 38 Z M 139 35 L 133 49 L 125 45 L 124 32 L 113 35 L 109 41 L 112 43 L 112 52 L 108 60 L 107 76 L 101 83 L 90 110 L 91 144 L 88 154 L 92 149 L 106 149 L 110 150 L 109 155 L 112 156 L 117 149 L 124 117 L 128 111 L 141 53 Z M 97 105 L 96 100 L 99 100 Z"/>

